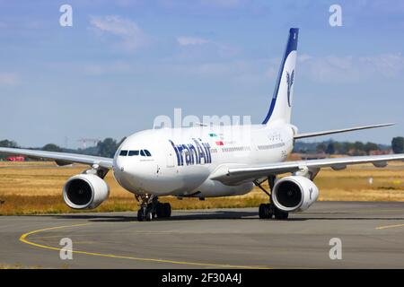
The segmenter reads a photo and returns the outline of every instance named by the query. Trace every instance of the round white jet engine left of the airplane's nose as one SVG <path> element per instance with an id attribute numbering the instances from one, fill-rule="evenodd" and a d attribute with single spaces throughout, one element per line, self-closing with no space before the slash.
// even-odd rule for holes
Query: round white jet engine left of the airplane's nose
<path id="1" fill-rule="evenodd" d="M 110 187 L 93 174 L 79 174 L 69 178 L 63 187 L 65 203 L 74 209 L 92 209 L 110 196 Z"/>

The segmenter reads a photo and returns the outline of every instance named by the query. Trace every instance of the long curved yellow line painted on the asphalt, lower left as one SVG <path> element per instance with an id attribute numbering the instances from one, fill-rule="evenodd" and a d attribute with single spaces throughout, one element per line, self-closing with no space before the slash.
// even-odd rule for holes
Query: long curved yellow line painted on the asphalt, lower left
<path id="1" fill-rule="evenodd" d="M 71 228 L 71 227 L 79 227 L 79 226 L 85 226 L 85 225 L 91 225 L 91 224 L 93 224 L 93 223 L 63 225 L 63 226 L 44 228 L 44 229 L 40 229 L 40 230 L 32 230 L 32 231 L 29 231 L 29 232 L 26 232 L 26 233 L 22 234 L 22 236 L 20 237 L 20 241 L 22 241 L 25 244 L 35 246 L 37 248 L 46 248 L 46 249 L 50 249 L 50 250 L 60 251 L 62 248 L 54 248 L 54 247 L 51 247 L 51 246 L 38 244 L 38 243 L 35 243 L 35 242 L 32 242 L 32 241 L 29 241 L 27 239 L 27 237 L 29 237 L 32 234 L 40 233 L 42 231 L 57 230 L 57 229 L 64 229 L 64 228 Z M 174 260 L 168 260 L 168 259 L 155 259 L 155 258 L 142 258 L 142 257 L 125 257 L 125 256 L 119 256 L 119 255 L 113 255 L 113 254 L 103 254 L 103 253 L 87 252 L 87 251 L 80 251 L 80 250 L 73 250 L 72 252 L 76 253 L 76 254 L 84 254 L 84 255 L 95 256 L 95 257 L 110 257 L 110 258 L 128 259 L 128 260 L 136 260 L 136 261 L 148 261 L 148 262 L 156 262 L 156 263 L 171 263 L 171 264 L 176 264 L 176 265 L 198 265 L 198 266 L 212 266 L 212 267 L 240 268 L 240 269 L 273 269 L 272 267 L 266 267 L 266 266 L 208 264 L 208 263 L 198 263 L 198 262 L 174 261 Z"/>

